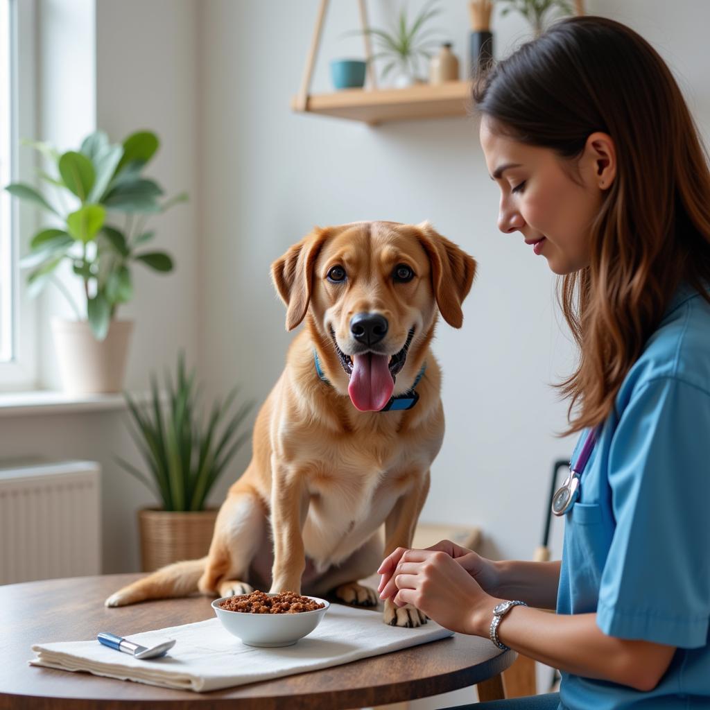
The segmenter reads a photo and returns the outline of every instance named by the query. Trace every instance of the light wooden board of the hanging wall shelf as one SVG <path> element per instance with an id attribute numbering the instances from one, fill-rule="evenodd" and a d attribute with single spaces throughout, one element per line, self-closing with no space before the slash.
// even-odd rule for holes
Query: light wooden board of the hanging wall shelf
<path id="1" fill-rule="evenodd" d="M 291 108 L 376 126 L 387 121 L 466 116 L 470 96 L 469 82 L 446 82 L 405 89 L 343 89 L 332 94 L 309 94 L 305 107 L 294 97 Z"/>

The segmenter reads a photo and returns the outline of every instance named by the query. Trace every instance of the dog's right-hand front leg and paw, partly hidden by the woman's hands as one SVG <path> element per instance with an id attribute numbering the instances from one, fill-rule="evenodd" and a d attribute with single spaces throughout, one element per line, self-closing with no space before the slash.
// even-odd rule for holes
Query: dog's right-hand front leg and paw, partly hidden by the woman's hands
<path id="1" fill-rule="evenodd" d="M 410 489 L 404 493 L 385 520 L 385 557 L 398 547 L 411 547 L 419 514 L 429 492 L 429 471 L 417 476 Z M 385 601 L 383 621 L 390 626 L 421 626 L 427 617 L 412 604 L 397 607 L 391 599 Z"/>

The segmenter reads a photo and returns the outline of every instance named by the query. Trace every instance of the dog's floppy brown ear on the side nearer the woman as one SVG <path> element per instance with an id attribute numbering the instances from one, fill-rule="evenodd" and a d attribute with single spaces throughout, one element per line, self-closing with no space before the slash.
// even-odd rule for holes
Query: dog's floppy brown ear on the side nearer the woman
<path id="1" fill-rule="evenodd" d="M 476 275 L 476 261 L 429 222 L 417 224 L 420 242 L 432 265 L 432 288 L 444 320 L 454 328 L 464 322 L 461 303 L 471 290 Z"/>

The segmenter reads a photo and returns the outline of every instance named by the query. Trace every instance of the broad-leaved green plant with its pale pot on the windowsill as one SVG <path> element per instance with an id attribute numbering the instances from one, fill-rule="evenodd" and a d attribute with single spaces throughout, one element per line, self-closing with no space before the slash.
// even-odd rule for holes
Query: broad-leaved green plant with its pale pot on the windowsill
<path id="1" fill-rule="evenodd" d="M 53 335 L 62 382 L 71 393 L 120 392 L 123 383 L 130 320 L 117 320 L 116 310 L 133 297 L 131 266 L 141 263 L 168 273 L 173 259 L 164 251 L 146 250 L 155 236 L 147 220 L 187 200 L 182 193 L 161 202 L 163 190 L 141 173 L 158 150 L 150 131 L 132 133 L 111 144 L 106 133 L 87 136 L 79 151 L 60 153 L 48 143 L 26 141 L 55 168 L 39 170 L 40 180 L 55 191 L 53 199 L 31 185 L 8 185 L 11 195 L 41 207 L 50 217 L 31 239 L 20 262 L 29 269 L 28 293 L 36 296 L 55 283 L 77 320 L 54 318 Z M 117 219 L 123 217 L 124 226 Z M 56 272 L 68 263 L 82 280 L 84 302 L 77 302 Z"/>

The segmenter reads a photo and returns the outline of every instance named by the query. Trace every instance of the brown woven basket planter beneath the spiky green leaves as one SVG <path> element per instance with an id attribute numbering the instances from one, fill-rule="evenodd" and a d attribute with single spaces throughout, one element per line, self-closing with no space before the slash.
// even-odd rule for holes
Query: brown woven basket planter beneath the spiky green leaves
<path id="1" fill-rule="evenodd" d="M 207 555 L 218 510 L 209 508 L 195 513 L 175 513 L 158 508 L 138 510 L 143 572 Z"/>

